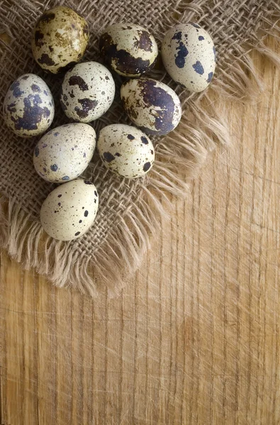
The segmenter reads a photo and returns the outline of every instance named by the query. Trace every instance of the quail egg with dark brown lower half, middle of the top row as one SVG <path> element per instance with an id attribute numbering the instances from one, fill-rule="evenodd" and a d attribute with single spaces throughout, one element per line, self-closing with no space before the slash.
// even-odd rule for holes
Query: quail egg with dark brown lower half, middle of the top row
<path id="1" fill-rule="evenodd" d="M 145 28 L 133 23 L 116 23 L 101 35 L 101 55 L 114 71 L 138 77 L 151 69 L 157 59 L 157 42 Z"/>

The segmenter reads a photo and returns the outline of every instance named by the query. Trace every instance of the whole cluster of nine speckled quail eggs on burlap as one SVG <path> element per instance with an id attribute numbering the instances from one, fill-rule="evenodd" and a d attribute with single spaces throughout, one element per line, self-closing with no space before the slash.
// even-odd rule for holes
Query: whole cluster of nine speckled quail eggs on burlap
<path id="1" fill-rule="evenodd" d="M 45 11 L 35 24 L 35 61 L 52 74 L 66 72 L 60 94 L 65 115 L 74 121 L 47 132 L 37 143 L 33 162 L 42 179 L 59 183 L 43 202 L 40 220 L 51 237 L 69 241 L 93 224 L 99 205 L 94 183 L 79 179 L 97 149 L 107 169 L 128 179 L 144 176 L 155 162 L 147 135 L 166 135 L 177 127 L 181 104 L 166 84 L 142 77 L 158 57 L 150 31 L 132 23 L 109 26 L 100 38 L 101 55 L 113 72 L 127 77 L 121 101 L 135 125 L 115 123 L 99 132 L 91 126 L 113 103 L 113 75 L 99 62 L 82 60 L 89 28 L 82 16 L 65 6 Z M 179 24 L 164 36 L 162 62 L 174 81 L 199 92 L 215 71 L 211 36 L 196 23 Z M 4 99 L 6 125 L 20 137 L 44 133 L 52 124 L 55 106 L 45 81 L 24 74 L 11 84 Z M 63 184 L 62 184 L 63 183 Z"/>

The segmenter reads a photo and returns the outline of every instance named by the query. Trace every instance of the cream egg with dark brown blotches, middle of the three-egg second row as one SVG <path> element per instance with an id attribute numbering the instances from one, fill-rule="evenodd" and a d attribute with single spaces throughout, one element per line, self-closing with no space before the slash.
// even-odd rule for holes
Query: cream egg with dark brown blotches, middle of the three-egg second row
<path id="1" fill-rule="evenodd" d="M 89 123 L 106 113 L 114 96 L 111 72 L 98 62 L 83 62 L 65 75 L 60 103 L 68 118 Z"/>

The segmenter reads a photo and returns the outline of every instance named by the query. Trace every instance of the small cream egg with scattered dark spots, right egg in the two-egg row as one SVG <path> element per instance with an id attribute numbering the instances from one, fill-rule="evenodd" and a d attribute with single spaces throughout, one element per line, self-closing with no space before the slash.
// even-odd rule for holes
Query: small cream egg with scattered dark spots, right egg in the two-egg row
<path id="1" fill-rule="evenodd" d="M 97 142 L 103 164 L 119 176 L 144 176 L 155 161 L 150 139 L 138 128 L 125 124 L 104 127 Z"/>

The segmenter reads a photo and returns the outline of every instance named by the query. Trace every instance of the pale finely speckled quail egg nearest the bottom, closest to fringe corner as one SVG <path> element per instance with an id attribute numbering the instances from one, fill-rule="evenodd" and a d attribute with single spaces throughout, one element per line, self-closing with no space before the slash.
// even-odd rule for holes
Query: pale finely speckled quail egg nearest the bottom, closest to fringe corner
<path id="1" fill-rule="evenodd" d="M 55 188 L 40 210 L 43 229 L 60 241 L 82 236 L 94 222 L 99 206 L 96 187 L 90 181 L 76 179 Z"/>

